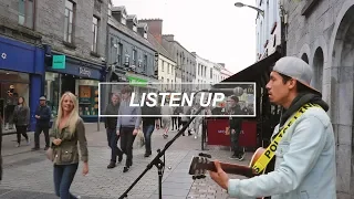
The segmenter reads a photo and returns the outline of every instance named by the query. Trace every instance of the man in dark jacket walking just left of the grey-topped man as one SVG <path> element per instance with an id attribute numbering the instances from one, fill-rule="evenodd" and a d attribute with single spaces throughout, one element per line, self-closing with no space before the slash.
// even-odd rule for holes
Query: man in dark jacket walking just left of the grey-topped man
<path id="1" fill-rule="evenodd" d="M 123 159 L 123 151 L 117 147 L 117 143 L 119 139 L 119 136 L 116 134 L 117 128 L 117 116 L 119 111 L 119 97 L 117 94 L 113 94 L 111 98 L 111 103 L 107 105 L 105 115 L 112 115 L 112 117 L 106 117 L 104 126 L 106 128 L 107 133 L 107 142 L 108 146 L 112 149 L 111 153 L 111 163 L 107 166 L 108 169 L 114 168 L 116 166 L 117 156 L 118 156 L 118 163 Z"/>

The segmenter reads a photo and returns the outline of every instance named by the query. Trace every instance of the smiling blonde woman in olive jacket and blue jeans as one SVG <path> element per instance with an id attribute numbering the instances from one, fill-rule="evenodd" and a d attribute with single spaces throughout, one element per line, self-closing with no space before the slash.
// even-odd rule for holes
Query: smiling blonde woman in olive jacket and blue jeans
<path id="1" fill-rule="evenodd" d="M 61 199 L 76 199 L 69 190 L 79 167 L 80 144 L 81 160 L 84 163 L 82 174 L 88 174 L 88 151 L 85 126 L 79 116 L 76 96 L 70 92 L 60 100 L 58 118 L 51 133 L 53 137 L 53 164 L 55 195 Z"/>

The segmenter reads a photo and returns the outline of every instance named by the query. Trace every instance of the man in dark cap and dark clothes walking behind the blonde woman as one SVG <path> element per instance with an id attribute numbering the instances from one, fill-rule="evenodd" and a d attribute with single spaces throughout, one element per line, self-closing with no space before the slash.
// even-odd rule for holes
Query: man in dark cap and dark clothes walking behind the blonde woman
<path id="1" fill-rule="evenodd" d="M 46 98 L 44 96 L 40 97 L 40 105 L 35 109 L 35 132 L 34 132 L 34 147 L 32 150 L 40 149 L 40 135 L 43 132 L 45 137 L 45 148 L 46 150 L 50 147 L 50 138 L 49 138 L 49 128 L 51 122 L 51 108 L 46 106 Z"/>

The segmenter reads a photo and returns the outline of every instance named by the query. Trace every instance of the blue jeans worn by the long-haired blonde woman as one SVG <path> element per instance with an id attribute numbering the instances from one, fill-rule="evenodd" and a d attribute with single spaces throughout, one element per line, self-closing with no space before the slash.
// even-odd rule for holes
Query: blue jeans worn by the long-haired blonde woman
<path id="1" fill-rule="evenodd" d="M 54 165 L 55 195 L 61 199 L 77 199 L 69 191 L 77 167 L 79 163 L 72 165 Z"/>

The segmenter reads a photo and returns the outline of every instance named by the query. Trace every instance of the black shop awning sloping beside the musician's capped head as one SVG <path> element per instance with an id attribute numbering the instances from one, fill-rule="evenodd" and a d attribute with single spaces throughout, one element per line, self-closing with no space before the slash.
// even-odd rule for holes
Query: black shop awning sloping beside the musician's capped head
<path id="1" fill-rule="evenodd" d="M 256 62 L 247 69 L 233 74 L 232 76 L 221 81 L 221 83 L 228 82 L 256 82 L 259 86 L 264 87 L 269 81 L 269 74 L 274 63 L 281 57 L 280 50 L 266 59 Z M 222 87 L 222 84 L 216 84 L 214 87 Z"/>

